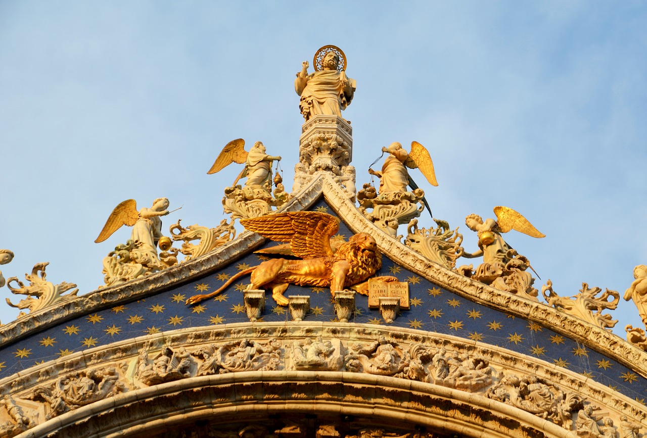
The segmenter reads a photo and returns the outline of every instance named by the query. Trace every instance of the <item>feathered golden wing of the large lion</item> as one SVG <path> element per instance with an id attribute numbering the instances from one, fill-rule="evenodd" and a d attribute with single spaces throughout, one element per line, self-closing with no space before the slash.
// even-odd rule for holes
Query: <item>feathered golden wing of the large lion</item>
<path id="1" fill-rule="evenodd" d="M 319 212 L 287 212 L 241 219 L 247 230 L 277 242 L 289 242 L 303 259 L 333 255 L 330 238 L 339 231 L 339 219 Z"/>

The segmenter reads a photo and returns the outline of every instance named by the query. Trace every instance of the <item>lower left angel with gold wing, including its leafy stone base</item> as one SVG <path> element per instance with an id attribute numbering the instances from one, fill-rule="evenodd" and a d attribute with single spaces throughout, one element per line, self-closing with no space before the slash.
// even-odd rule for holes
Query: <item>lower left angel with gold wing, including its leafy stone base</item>
<path id="1" fill-rule="evenodd" d="M 171 239 L 162 235 L 161 216 L 166 216 L 169 202 L 166 198 L 153 201 L 151 208 L 137 210 L 135 199 L 119 203 L 105 221 L 104 228 L 94 241 L 101 243 L 122 226 L 132 226 L 131 238 L 125 245 L 104 258 L 104 280 L 107 286 L 150 274 L 177 264 L 177 249 L 171 248 Z M 157 246 L 163 250 L 157 254 Z M 166 250 L 171 252 L 166 252 Z"/>

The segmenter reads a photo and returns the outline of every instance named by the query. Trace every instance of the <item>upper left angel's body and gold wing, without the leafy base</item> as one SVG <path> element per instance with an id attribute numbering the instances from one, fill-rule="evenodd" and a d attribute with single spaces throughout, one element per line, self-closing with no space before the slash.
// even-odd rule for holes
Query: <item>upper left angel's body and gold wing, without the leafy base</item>
<path id="1" fill-rule="evenodd" d="M 247 177 L 245 186 L 261 186 L 269 191 L 272 186 L 272 161 L 274 160 L 280 161 L 281 157 L 267 155 L 263 143 L 254 143 L 252 149 L 247 152 L 245 151 L 245 140 L 237 138 L 225 145 L 207 174 L 219 172 L 232 162 L 245 163 L 245 168 L 241 170 L 232 186 L 236 186 L 242 177 Z"/>

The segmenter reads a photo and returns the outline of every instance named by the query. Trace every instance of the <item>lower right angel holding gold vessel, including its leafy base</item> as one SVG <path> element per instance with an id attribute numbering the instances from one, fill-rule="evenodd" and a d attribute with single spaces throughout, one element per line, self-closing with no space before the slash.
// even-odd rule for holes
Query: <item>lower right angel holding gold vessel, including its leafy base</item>
<path id="1" fill-rule="evenodd" d="M 496 289 L 506 290 L 537 300 L 538 290 L 532 287 L 534 278 L 527 268 L 530 262 L 508 245 L 501 234 L 510 230 L 517 230 L 531 237 L 545 237 L 523 215 L 512 208 L 494 207 L 497 220 L 485 219 L 477 214 L 470 214 L 465 218 L 465 224 L 470 230 L 477 233 L 479 249 L 475 252 L 464 252 L 463 257 L 474 258 L 483 256 L 483 263 L 472 273 L 470 267 L 459 267 L 459 272 L 474 278 L 481 283 L 492 285 Z"/>

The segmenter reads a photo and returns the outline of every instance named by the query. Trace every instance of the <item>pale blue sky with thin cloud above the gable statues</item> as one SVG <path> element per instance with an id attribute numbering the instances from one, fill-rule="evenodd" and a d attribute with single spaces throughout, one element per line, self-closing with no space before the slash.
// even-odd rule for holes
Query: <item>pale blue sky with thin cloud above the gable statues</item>
<path id="1" fill-rule="evenodd" d="M 294 74 L 334 44 L 357 81 L 345 118 L 358 187 L 382 146 L 417 140 L 439 186 L 413 177 L 466 250 L 476 235 L 465 216 L 509 206 L 547 235 L 506 238 L 558 294 L 587 282 L 622 295 L 647 263 L 647 6 L 394 5 L 0 1 L 0 248 L 16 254 L 3 275 L 49 261 L 50 281 L 96 289 L 129 230 L 94 239 L 129 198 L 183 206 L 164 230 L 216 226 L 240 168 L 206 171 L 234 138 L 281 155 L 289 190 L 302 124 Z M 6 297 L 19 299 L 5 286 Z M 16 314 L 0 305 L 2 322 Z M 642 327 L 633 303 L 611 314 L 623 338 L 627 323 Z"/>

